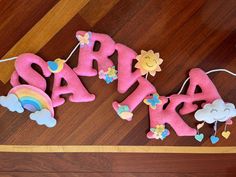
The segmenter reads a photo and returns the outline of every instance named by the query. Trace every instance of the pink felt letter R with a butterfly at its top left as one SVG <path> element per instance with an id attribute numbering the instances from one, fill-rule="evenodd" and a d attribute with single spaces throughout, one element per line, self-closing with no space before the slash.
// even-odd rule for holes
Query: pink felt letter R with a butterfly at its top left
<path id="1" fill-rule="evenodd" d="M 85 31 L 78 31 L 76 35 L 84 35 Z M 100 49 L 93 51 L 95 41 L 100 42 Z M 79 76 L 96 76 L 97 71 L 93 68 L 93 61 L 97 61 L 98 71 L 107 71 L 109 67 L 114 66 L 108 58 L 115 52 L 115 42 L 106 34 L 91 33 L 89 45 L 80 48 L 78 57 L 78 66 L 74 71 Z"/>

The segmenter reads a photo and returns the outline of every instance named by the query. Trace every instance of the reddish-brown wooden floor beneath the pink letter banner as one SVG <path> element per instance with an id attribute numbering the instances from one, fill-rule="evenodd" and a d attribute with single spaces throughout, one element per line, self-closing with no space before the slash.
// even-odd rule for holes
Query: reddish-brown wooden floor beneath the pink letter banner
<path id="1" fill-rule="evenodd" d="M 160 95 L 176 93 L 191 68 L 205 71 L 226 68 L 236 72 L 236 0 L 0 0 L 0 57 L 24 52 L 45 60 L 65 58 L 77 43 L 75 32 L 89 30 L 110 35 L 139 52 L 158 51 L 162 72 L 149 80 Z M 78 52 L 69 65 L 75 67 Z M 0 65 L 0 94 L 11 88 L 14 62 Z M 210 76 L 221 96 L 236 103 L 235 78 L 224 73 Z M 2 145 L 143 145 L 213 146 L 209 139 L 179 138 L 173 130 L 165 141 L 148 140 L 147 107 L 134 111 L 132 122 L 120 120 L 112 101 L 129 93 L 116 91 L 97 77 L 82 77 L 96 101 L 70 103 L 56 109 L 54 129 L 37 126 L 28 114 L 0 108 Z M 100 89 L 102 88 L 102 89 Z M 194 125 L 193 115 L 184 117 Z M 236 146 L 231 136 L 214 146 Z M 223 130 L 220 126 L 219 132 Z M 204 130 L 206 136 L 211 127 Z M 213 150 L 214 151 L 214 150 Z M 236 155 L 127 154 L 127 153 L 1 153 L 0 176 L 235 176 Z"/>

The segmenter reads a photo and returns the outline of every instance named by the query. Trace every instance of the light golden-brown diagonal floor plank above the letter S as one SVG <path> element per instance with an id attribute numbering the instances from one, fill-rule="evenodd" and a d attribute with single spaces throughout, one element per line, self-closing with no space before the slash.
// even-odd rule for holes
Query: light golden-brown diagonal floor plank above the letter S
<path id="1" fill-rule="evenodd" d="M 59 1 L 3 58 L 38 52 L 87 3 L 88 0 Z M 0 71 L 0 80 L 6 83 L 14 70 L 14 61 L 2 63 L 1 66 L 3 69 Z"/>

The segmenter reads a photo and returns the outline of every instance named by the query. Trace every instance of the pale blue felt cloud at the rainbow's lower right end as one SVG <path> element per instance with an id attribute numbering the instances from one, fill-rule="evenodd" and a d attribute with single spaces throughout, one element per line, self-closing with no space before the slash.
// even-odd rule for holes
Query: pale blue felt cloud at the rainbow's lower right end
<path id="1" fill-rule="evenodd" d="M 47 109 L 31 113 L 30 119 L 36 121 L 39 125 L 46 125 L 49 128 L 52 128 L 57 124 L 57 120 L 51 116 L 50 111 Z"/>

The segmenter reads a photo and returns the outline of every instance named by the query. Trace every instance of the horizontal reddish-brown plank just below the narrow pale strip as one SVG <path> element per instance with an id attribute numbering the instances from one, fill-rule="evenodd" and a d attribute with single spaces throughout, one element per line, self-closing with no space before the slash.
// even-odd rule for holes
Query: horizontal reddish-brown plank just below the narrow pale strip
<path id="1" fill-rule="evenodd" d="M 236 173 L 232 154 L 1 153 L 1 172 Z"/>

